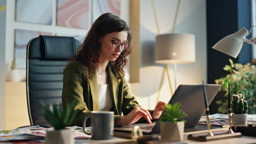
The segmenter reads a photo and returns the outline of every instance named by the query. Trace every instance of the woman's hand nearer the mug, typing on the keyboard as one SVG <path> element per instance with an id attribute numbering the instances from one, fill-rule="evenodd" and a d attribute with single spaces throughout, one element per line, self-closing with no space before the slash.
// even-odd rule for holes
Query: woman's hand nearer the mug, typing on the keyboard
<path id="1" fill-rule="evenodd" d="M 141 117 L 144 117 L 148 123 L 152 123 L 152 116 L 148 110 L 137 106 L 128 115 L 121 117 L 118 120 L 117 125 L 130 125 L 137 122 Z"/>

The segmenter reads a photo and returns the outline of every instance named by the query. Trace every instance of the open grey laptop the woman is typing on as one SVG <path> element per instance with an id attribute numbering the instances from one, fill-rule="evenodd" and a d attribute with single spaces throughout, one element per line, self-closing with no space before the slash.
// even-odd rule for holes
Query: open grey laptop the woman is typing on
<path id="1" fill-rule="evenodd" d="M 206 93 L 208 98 L 208 104 L 212 103 L 213 98 L 218 93 L 221 85 L 205 85 Z M 185 123 L 185 129 L 194 128 L 205 112 L 205 95 L 203 93 L 203 85 L 179 85 L 177 90 L 174 92 L 171 100 L 168 104 L 173 105 L 174 103 L 180 103 L 181 109 L 187 113 L 187 117 L 183 119 L 187 121 Z M 118 131 L 131 131 L 135 125 L 138 125 L 143 133 L 146 134 L 159 134 L 160 133 L 160 122 L 148 124 L 131 124 L 129 126 L 122 126 L 114 128 Z"/>

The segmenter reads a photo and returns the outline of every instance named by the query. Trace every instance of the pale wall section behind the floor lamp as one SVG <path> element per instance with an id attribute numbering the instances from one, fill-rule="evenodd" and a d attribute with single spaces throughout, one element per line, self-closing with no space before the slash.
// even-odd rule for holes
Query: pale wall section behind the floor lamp
<path id="1" fill-rule="evenodd" d="M 177 0 L 154 1 L 159 21 L 160 34 L 171 33 Z M 139 104 L 154 109 L 163 65 L 154 62 L 154 46 L 157 29 L 152 3 L 140 1 L 141 68 Z M 177 65 L 177 86 L 179 84 L 201 84 L 206 81 L 206 2 L 205 0 L 182 0 L 174 33 L 191 33 L 196 39 L 196 62 Z M 173 81 L 173 65 L 168 65 Z M 164 77 L 160 100 L 170 100 L 167 76 Z"/>

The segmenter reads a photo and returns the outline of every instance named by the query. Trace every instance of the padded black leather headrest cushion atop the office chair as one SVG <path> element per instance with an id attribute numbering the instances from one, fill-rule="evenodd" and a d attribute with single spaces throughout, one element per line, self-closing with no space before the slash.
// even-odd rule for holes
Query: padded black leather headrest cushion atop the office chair
<path id="1" fill-rule="evenodd" d="M 73 37 L 40 35 L 43 60 L 63 61 L 75 55 L 76 45 Z"/>

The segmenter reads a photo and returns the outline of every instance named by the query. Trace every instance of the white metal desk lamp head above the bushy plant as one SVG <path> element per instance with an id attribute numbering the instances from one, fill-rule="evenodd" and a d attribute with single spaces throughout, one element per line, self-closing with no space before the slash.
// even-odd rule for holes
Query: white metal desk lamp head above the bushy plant
<path id="1" fill-rule="evenodd" d="M 243 27 L 236 33 L 230 34 L 218 41 L 212 48 L 236 58 L 248 33 L 247 29 Z"/>

